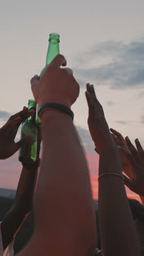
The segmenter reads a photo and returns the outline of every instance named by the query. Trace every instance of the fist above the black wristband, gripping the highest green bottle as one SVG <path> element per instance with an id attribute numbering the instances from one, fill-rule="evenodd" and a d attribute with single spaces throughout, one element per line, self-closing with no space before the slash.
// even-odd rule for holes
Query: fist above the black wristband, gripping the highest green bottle
<path id="1" fill-rule="evenodd" d="M 40 79 L 38 76 L 31 79 L 31 90 L 39 107 L 47 102 L 55 102 L 70 108 L 76 101 L 79 85 L 71 69 L 60 68 L 66 65 L 65 57 L 58 54 L 47 66 Z"/>

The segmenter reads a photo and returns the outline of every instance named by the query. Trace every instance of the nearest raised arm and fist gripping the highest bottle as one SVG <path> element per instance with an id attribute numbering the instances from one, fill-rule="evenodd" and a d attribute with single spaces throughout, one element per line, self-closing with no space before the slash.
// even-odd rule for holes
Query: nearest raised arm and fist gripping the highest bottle
<path id="1" fill-rule="evenodd" d="M 73 71 L 57 55 L 38 81 L 31 80 L 38 106 L 70 108 L 79 94 Z M 35 231 L 23 255 L 93 255 L 94 206 L 89 170 L 71 117 L 53 108 L 41 112 L 43 157 L 35 194 Z"/>

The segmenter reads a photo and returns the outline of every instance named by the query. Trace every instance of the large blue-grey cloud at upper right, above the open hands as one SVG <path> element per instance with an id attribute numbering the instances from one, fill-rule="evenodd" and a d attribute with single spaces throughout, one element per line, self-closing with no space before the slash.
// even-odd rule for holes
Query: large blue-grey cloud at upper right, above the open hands
<path id="1" fill-rule="evenodd" d="M 97 66 L 83 68 L 83 63 L 90 66 L 94 59 Z M 105 61 L 101 64 L 103 59 Z M 130 44 L 110 41 L 97 44 L 91 51 L 82 53 L 74 70 L 79 79 L 92 79 L 99 85 L 109 85 L 111 89 L 140 88 L 144 83 L 143 63 L 143 38 Z"/>

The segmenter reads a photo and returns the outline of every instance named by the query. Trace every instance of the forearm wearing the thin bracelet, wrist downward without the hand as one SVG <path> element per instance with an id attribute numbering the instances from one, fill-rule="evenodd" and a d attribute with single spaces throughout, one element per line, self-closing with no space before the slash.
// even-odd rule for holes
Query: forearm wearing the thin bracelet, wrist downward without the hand
<path id="1" fill-rule="evenodd" d="M 121 161 L 113 143 L 100 152 L 99 175 L 108 172 L 122 175 Z M 103 255 L 140 255 L 124 182 L 116 175 L 99 179 L 99 223 Z"/>

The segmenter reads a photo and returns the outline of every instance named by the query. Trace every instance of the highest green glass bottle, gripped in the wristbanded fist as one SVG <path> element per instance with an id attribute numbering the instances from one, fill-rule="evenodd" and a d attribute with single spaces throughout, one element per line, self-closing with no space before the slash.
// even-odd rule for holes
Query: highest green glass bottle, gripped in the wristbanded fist
<path id="1" fill-rule="evenodd" d="M 49 37 L 49 47 L 46 55 L 45 67 L 42 69 L 40 77 L 43 75 L 46 67 L 51 63 L 56 55 L 60 53 L 59 49 L 60 36 L 56 33 L 51 33 Z M 38 105 L 36 106 L 36 124 L 41 123 L 41 119 L 38 116 Z"/>

